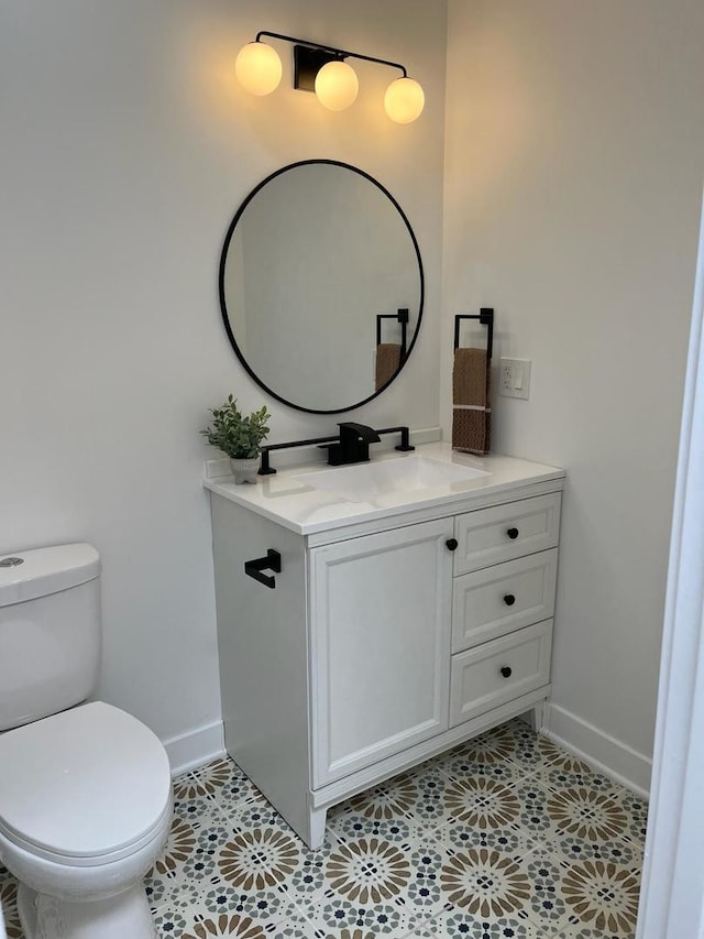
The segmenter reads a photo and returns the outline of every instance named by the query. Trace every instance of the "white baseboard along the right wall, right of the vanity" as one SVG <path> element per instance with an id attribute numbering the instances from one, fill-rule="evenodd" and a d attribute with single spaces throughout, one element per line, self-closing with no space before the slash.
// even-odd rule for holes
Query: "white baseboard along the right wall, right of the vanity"
<path id="1" fill-rule="evenodd" d="M 652 768 L 648 756 L 551 702 L 544 706 L 542 732 L 594 769 L 648 798 Z"/>

